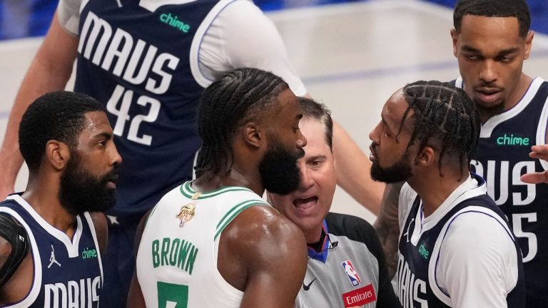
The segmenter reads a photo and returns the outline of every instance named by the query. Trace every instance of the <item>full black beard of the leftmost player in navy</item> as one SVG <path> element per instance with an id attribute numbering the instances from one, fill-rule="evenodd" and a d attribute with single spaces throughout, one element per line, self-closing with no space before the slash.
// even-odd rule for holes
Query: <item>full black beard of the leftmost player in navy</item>
<path id="1" fill-rule="evenodd" d="M 73 153 L 61 175 L 59 200 L 61 205 L 73 215 L 83 212 L 103 212 L 114 205 L 116 190 L 108 188 L 108 180 L 118 175 L 119 165 L 106 175 L 96 177 L 80 167 L 78 154 Z"/>

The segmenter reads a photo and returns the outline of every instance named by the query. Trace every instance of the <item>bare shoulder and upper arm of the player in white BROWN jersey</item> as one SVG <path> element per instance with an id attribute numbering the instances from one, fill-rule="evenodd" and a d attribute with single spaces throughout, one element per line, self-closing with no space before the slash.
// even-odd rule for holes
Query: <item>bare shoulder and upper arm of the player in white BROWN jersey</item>
<path id="1" fill-rule="evenodd" d="M 243 290 L 240 307 L 294 307 L 307 261 L 303 233 L 270 207 L 244 210 L 220 237 L 218 270 Z"/>

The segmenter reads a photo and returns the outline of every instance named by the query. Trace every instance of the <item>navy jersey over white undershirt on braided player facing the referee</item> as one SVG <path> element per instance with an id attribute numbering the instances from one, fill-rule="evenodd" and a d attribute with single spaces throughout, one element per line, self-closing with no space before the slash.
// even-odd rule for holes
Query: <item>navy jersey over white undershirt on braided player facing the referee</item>
<path id="1" fill-rule="evenodd" d="M 475 175 L 480 186 L 484 180 Z M 480 187 L 478 186 L 478 187 Z M 484 192 L 484 190 L 483 190 Z M 476 215 L 487 215 L 493 217 L 514 242 L 514 253 L 517 255 L 517 265 L 503 265 L 501 272 L 507 270 L 506 266 L 517 266 L 517 283 L 511 292 L 507 294 L 506 302 L 509 308 L 523 308 L 525 302 L 524 274 L 521 254 L 514 236 L 507 224 L 502 211 L 494 204 L 493 200 L 480 191 L 468 190 L 462 193 L 462 200 L 450 208 L 441 207 L 443 215 L 437 220 L 434 227 L 422 230 L 422 221 L 416 217 L 423 217 L 420 197 L 417 195 L 405 219 L 405 224 L 400 233 L 398 244 L 399 256 L 397 262 L 398 297 L 404 308 L 446 308 L 450 306 L 451 294 L 447 294 L 440 287 L 436 277 L 436 268 L 442 253 L 442 243 L 452 226 L 452 222 L 459 215 L 474 212 Z M 400 205 L 401 206 L 401 205 Z M 482 208 L 486 210 L 482 210 Z M 419 214 L 420 213 L 420 214 Z M 417 216 L 418 215 L 418 216 Z M 419 224 L 415 226 L 415 224 Z M 478 228 L 481 230 L 481 227 Z M 415 232 L 420 234 L 417 240 L 410 240 Z M 474 252 L 468 252 L 474 254 Z M 482 279 L 482 277 L 476 277 Z M 451 279 L 451 277 L 446 277 Z M 483 294 L 489 296 L 489 294 Z M 478 306 L 480 307 L 480 306 Z"/>

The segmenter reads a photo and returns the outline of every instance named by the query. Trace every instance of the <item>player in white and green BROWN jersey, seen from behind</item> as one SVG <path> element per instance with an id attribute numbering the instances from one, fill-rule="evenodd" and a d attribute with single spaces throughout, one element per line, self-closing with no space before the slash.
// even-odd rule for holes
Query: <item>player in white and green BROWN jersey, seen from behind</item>
<path id="1" fill-rule="evenodd" d="M 141 222 L 128 307 L 293 307 L 306 270 L 303 233 L 260 196 L 298 188 L 302 116 L 288 84 L 255 68 L 205 90 L 196 180 Z"/>

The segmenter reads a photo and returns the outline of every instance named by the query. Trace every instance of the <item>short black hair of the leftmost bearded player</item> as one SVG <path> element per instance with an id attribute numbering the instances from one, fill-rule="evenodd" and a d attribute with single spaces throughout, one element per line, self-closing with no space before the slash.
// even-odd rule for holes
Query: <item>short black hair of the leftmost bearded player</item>
<path id="1" fill-rule="evenodd" d="M 86 113 L 103 111 L 101 103 L 81 93 L 59 91 L 46 93 L 31 103 L 19 123 L 19 150 L 29 170 L 40 168 L 49 140 L 78 147 Z"/>

